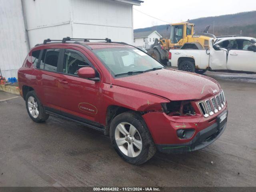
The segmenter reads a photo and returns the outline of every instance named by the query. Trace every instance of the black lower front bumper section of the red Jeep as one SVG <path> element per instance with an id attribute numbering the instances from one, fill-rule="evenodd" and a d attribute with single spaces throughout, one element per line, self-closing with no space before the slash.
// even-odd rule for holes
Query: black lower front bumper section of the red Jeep
<path id="1" fill-rule="evenodd" d="M 164 153 L 180 154 L 205 148 L 217 140 L 226 129 L 227 117 L 220 123 L 220 117 L 226 112 L 226 110 L 222 112 L 214 124 L 198 132 L 190 142 L 183 144 L 156 144 L 157 150 Z"/>

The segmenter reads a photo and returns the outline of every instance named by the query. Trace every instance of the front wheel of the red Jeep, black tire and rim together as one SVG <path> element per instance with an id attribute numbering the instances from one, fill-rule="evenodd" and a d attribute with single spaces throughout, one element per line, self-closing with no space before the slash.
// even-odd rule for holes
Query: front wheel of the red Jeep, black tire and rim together
<path id="1" fill-rule="evenodd" d="M 124 112 L 112 120 L 110 140 L 118 155 L 131 164 L 143 164 L 156 152 L 156 146 L 146 123 L 135 112 Z"/>

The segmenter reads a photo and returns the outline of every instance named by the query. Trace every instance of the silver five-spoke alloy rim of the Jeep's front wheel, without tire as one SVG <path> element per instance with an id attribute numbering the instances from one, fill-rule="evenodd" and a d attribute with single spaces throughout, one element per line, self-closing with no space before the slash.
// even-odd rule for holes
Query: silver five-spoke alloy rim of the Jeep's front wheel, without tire
<path id="1" fill-rule="evenodd" d="M 142 139 L 138 130 L 130 123 L 116 126 L 115 140 L 118 148 L 128 157 L 136 157 L 142 150 Z"/>

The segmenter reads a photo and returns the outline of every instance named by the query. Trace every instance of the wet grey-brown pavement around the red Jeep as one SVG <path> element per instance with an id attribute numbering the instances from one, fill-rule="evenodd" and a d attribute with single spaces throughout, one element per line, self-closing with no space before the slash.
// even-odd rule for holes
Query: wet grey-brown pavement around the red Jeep
<path id="1" fill-rule="evenodd" d="M 256 84 L 218 81 L 228 102 L 222 136 L 199 151 L 158 152 L 140 166 L 124 162 L 100 132 L 54 116 L 35 123 L 21 97 L 0 102 L 0 186 L 255 187 Z"/>

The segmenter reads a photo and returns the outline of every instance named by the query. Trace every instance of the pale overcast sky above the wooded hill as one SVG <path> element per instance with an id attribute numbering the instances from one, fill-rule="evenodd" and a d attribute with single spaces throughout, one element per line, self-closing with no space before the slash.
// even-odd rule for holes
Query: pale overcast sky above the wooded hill
<path id="1" fill-rule="evenodd" d="M 144 3 L 141 3 L 141 6 L 133 6 L 134 29 L 168 23 L 177 23 L 187 21 L 188 19 L 191 20 L 201 17 L 219 16 L 256 10 L 256 0 L 143 1 Z M 154 18 L 147 16 L 146 14 Z"/>

